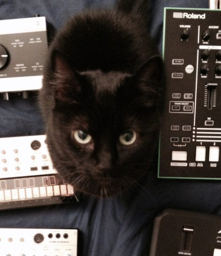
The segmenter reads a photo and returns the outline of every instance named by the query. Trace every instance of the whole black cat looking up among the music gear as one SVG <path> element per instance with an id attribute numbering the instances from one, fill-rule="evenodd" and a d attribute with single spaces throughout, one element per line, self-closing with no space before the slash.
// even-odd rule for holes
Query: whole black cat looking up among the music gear
<path id="1" fill-rule="evenodd" d="M 52 162 L 75 189 L 120 193 L 156 154 L 163 63 L 151 39 L 149 1 L 88 11 L 55 36 L 40 106 Z"/>

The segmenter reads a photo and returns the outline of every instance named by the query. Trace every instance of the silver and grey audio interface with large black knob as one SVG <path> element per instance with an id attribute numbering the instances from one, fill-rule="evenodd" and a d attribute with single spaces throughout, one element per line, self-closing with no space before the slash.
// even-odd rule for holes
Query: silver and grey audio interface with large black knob
<path id="1" fill-rule="evenodd" d="M 0 92 L 4 99 L 8 100 L 7 92 L 42 87 L 48 26 L 45 17 L 0 20 Z"/>

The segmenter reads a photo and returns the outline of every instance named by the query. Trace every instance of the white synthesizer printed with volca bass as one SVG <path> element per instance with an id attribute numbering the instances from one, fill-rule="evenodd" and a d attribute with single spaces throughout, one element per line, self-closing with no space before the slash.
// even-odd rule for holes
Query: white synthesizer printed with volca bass
<path id="1" fill-rule="evenodd" d="M 78 229 L 0 228 L 1 255 L 77 256 Z"/>

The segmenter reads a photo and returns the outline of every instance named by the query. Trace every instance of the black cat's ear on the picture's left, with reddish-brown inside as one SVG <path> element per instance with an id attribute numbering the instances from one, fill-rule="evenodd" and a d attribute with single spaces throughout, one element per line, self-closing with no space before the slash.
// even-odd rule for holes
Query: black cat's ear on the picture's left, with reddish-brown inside
<path id="1" fill-rule="evenodd" d="M 68 56 L 67 56 L 68 58 Z M 54 98 L 57 103 L 78 103 L 80 74 L 72 69 L 58 51 L 52 53 Z"/>

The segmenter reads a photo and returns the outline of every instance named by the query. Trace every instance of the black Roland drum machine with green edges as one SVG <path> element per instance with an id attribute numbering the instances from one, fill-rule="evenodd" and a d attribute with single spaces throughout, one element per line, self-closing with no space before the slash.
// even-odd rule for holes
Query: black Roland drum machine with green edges
<path id="1" fill-rule="evenodd" d="M 221 179 L 221 10 L 165 8 L 163 57 L 158 177 Z"/>

